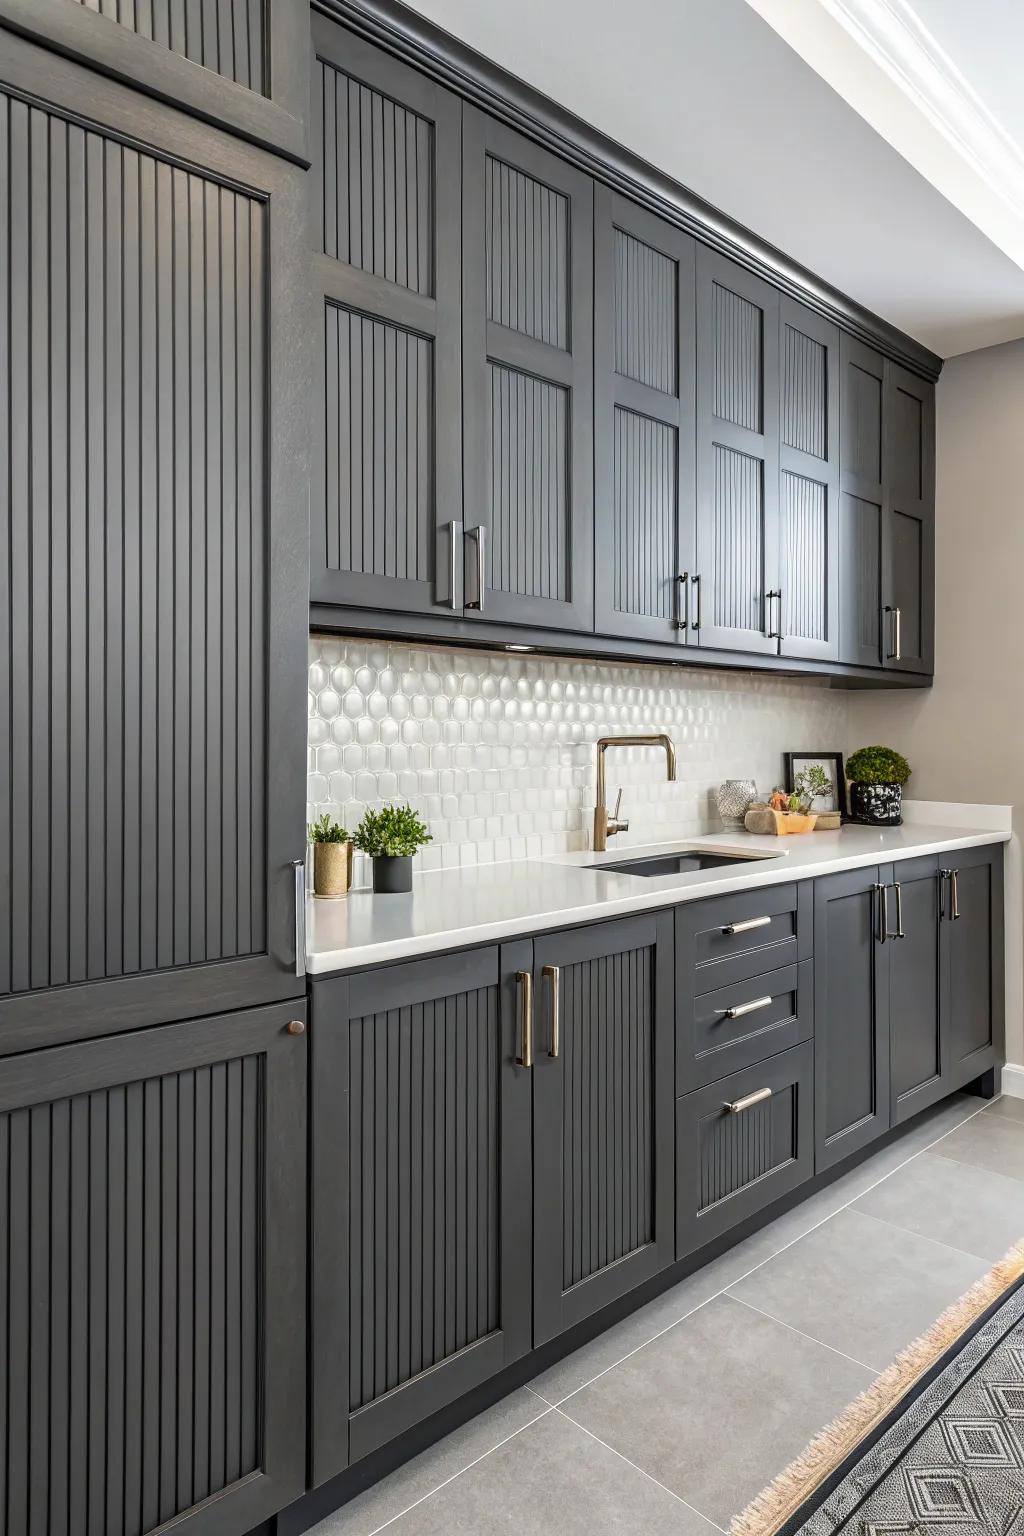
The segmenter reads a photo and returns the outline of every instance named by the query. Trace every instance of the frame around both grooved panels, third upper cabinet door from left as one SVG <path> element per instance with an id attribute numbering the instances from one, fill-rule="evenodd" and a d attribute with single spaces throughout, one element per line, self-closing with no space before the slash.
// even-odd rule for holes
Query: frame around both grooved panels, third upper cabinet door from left
<path id="1" fill-rule="evenodd" d="M 672 392 L 654 389 L 634 378 L 616 372 L 616 240 L 617 235 L 633 237 L 652 252 L 674 264 L 672 298 L 676 326 L 671 343 L 676 350 L 676 378 Z M 636 636 L 637 639 L 662 641 L 685 645 L 689 631 L 689 576 L 694 570 L 694 418 L 695 418 L 695 243 L 689 235 L 666 224 L 611 192 L 603 184 L 594 186 L 594 607 L 596 628 L 603 634 Z M 672 582 L 668 616 L 628 613 L 616 607 L 616 493 L 617 476 L 622 473 L 616 461 L 616 422 L 619 412 L 631 412 L 666 427 L 674 433 L 676 452 L 676 508 L 674 508 L 674 568 L 666 571 Z M 634 551 L 636 559 L 646 558 L 654 564 L 651 551 Z M 695 637 L 695 636 L 694 636 Z"/>

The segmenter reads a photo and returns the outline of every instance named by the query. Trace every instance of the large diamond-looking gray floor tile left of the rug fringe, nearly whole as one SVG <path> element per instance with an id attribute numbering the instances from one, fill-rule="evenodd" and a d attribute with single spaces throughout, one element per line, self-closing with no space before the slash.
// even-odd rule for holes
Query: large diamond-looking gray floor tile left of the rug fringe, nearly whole
<path id="1" fill-rule="evenodd" d="M 728 1527 L 870 1379 L 841 1355 L 718 1296 L 562 1412 Z"/>

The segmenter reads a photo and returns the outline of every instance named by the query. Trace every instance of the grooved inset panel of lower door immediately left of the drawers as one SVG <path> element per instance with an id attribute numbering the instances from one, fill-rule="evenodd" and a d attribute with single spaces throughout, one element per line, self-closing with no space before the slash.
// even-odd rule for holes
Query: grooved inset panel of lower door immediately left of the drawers
<path id="1" fill-rule="evenodd" d="M 562 1286 L 654 1236 L 649 948 L 562 966 Z"/>

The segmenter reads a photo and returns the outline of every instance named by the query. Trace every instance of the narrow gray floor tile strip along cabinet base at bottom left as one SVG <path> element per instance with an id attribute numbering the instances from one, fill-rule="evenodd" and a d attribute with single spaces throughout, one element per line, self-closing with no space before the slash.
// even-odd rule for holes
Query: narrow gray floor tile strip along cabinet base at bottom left
<path id="1" fill-rule="evenodd" d="M 468 1424 L 445 1435 L 413 1461 L 399 1467 L 382 1482 L 352 1499 L 335 1514 L 315 1525 L 310 1536 L 370 1536 L 387 1521 L 431 1493 L 448 1478 L 454 1478 L 470 1462 L 485 1456 L 510 1435 L 516 1435 L 547 1409 L 531 1392 L 519 1392 L 502 1398 L 493 1409 L 479 1413 Z"/>

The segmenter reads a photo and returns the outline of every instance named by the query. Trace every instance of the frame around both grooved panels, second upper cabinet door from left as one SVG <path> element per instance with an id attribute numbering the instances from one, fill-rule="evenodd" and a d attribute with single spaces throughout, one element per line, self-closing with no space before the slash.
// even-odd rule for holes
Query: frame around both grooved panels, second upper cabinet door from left
<path id="1" fill-rule="evenodd" d="M 508 329 L 487 313 L 487 161 L 539 183 L 565 200 L 565 347 Z M 513 378 L 565 392 L 563 453 L 565 601 L 496 590 L 477 579 L 474 528 L 485 528 L 490 570 L 496 558 L 491 505 L 491 364 Z M 464 381 L 464 590 L 467 619 L 543 625 L 590 633 L 594 627 L 594 187 L 567 161 L 468 103 L 462 109 L 462 381 Z M 520 530 L 522 559 L 542 564 Z M 482 599 L 482 605 L 481 605 Z"/>

